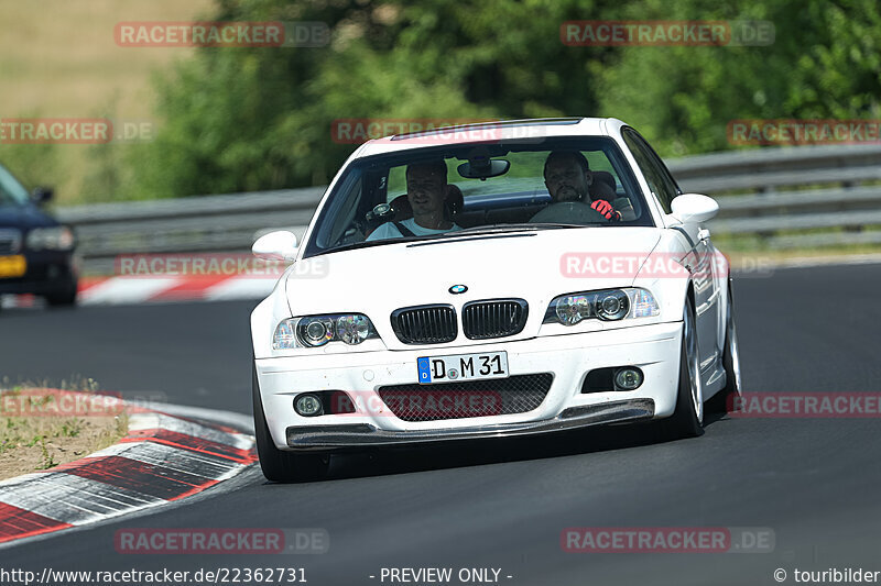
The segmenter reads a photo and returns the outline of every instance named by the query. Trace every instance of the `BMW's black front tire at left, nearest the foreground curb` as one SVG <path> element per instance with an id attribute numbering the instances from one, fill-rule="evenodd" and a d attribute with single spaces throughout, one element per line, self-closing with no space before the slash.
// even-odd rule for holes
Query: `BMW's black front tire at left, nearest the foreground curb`
<path id="1" fill-rule="evenodd" d="M 324 478 L 330 467 L 328 455 L 284 452 L 275 447 L 263 413 L 263 401 L 260 400 L 257 371 L 253 372 L 252 395 L 257 454 L 260 456 L 263 476 L 274 483 L 303 483 Z"/>

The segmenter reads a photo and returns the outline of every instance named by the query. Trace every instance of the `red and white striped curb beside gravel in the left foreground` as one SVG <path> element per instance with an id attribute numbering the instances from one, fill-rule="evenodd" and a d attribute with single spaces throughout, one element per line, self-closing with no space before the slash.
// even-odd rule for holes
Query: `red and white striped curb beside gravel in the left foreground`
<path id="1" fill-rule="evenodd" d="M 157 507 L 257 462 L 232 428 L 135 408 L 120 443 L 45 472 L 0 482 L 0 543 Z"/>

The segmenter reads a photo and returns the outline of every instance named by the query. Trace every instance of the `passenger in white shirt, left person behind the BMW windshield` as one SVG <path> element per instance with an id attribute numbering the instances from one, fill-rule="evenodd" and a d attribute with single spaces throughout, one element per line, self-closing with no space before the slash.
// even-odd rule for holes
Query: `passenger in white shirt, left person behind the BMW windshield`
<path id="1" fill-rule="evenodd" d="M 448 189 L 447 165 L 443 159 L 407 165 L 406 199 L 413 209 L 413 218 L 385 222 L 367 240 L 427 236 L 461 230 L 450 221 L 444 206 Z"/>

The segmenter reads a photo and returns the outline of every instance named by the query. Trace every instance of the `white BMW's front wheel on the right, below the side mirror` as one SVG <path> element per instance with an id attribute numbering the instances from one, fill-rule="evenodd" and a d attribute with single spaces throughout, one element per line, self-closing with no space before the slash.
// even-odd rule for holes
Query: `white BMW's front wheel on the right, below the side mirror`
<path id="1" fill-rule="evenodd" d="M 673 439 L 697 438 L 704 433 L 704 389 L 697 354 L 697 323 L 690 299 L 685 303 L 682 330 L 676 409 L 663 422 L 665 431 Z"/>

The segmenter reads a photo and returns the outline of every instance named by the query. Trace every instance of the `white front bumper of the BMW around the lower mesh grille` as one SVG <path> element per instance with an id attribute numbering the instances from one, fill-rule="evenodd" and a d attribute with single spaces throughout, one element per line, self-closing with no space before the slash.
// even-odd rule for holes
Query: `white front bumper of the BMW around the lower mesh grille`
<path id="1" fill-rule="evenodd" d="M 516 342 L 406 351 L 255 361 L 260 396 L 273 442 L 281 450 L 336 450 L 546 433 L 588 425 L 667 417 L 678 382 L 682 322 L 553 335 Z M 435 421 L 404 421 L 390 409 L 301 417 L 293 409 L 301 392 L 341 390 L 382 403 L 382 386 L 414 384 L 416 358 L 481 351 L 508 353 L 511 376 L 551 373 L 542 403 L 527 412 Z M 645 378 L 632 391 L 581 392 L 589 371 L 632 365 Z M 425 387 L 431 390 L 431 386 Z M 365 402 L 365 401 L 362 401 Z"/>

